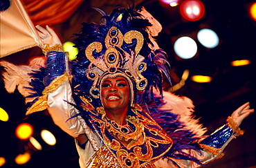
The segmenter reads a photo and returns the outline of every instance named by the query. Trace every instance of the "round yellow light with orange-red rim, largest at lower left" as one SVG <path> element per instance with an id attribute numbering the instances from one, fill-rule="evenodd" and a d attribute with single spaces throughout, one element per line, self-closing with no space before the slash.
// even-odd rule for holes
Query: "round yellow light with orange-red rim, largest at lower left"
<path id="1" fill-rule="evenodd" d="M 17 136 L 17 138 L 21 139 L 21 140 L 26 140 L 28 138 L 30 138 L 30 136 L 33 135 L 33 127 L 32 125 L 28 124 L 28 123 L 21 123 L 17 126 L 16 130 L 15 130 L 15 134 Z"/>

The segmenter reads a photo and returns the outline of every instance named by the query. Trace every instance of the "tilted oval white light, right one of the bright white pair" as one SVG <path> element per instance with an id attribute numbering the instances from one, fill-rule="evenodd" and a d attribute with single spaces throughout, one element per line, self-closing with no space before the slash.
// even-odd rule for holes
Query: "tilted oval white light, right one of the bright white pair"
<path id="1" fill-rule="evenodd" d="M 203 28 L 197 33 L 197 39 L 206 48 L 214 48 L 219 44 L 219 37 L 213 30 Z"/>

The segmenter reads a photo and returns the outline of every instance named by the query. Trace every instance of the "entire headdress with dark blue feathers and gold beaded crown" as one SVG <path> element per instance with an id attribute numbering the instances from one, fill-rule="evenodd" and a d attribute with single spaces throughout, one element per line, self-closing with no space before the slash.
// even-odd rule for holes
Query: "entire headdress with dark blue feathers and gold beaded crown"
<path id="1" fill-rule="evenodd" d="M 120 75 L 129 81 L 133 103 L 152 104 L 154 88 L 162 94 L 162 73 L 168 73 L 165 52 L 150 35 L 152 24 L 132 8 L 116 8 L 110 15 L 99 11 L 100 24 L 83 23 L 75 40 L 80 50 L 72 65 L 75 93 L 94 102 L 102 78 Z"/>

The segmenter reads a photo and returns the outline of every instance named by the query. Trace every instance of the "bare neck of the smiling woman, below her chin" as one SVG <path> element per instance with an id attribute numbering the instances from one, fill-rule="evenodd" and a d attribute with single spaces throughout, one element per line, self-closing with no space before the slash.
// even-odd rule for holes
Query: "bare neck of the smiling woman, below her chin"
<path id="1" fill-rule="evenodd" d="M 108 109 L 105 109 L 105 111 L 106 111 L 107 118 L 109 118 L 109 120 L 114 120 L 117 124 L 120 124 L 120 125 L 127 124 L 126 115 L 127 115 L 128 108 L 124 109 L 123 111 L 120 111 L 120 110 L 115 111 L 115 110 L 108 110 Z"/>

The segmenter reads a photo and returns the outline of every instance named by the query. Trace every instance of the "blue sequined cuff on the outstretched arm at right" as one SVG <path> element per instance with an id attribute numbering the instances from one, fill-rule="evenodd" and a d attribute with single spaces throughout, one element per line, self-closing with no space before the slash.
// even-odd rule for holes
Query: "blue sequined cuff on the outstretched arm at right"
<path id="1" fill-rule="evenodd" d="M 232 133 L 232 129 L 224 125 L 223 127 L 217 129 L 217 131 L 212 133 L 210 136 L 202 140 L 200 143 L 214 148 L 221 148 L 223 144 L 225 144 L 232 136 Z"/>

